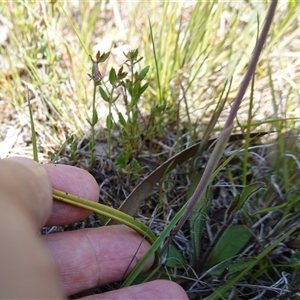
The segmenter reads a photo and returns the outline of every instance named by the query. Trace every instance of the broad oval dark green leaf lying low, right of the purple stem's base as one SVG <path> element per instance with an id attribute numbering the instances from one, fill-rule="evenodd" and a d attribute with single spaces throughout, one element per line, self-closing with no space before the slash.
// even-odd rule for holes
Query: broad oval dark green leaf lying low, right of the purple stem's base
<path id="1" fill-rule="evenodd" d="M 212 250 L 206 267 L 210 268 L 224 260 L 227 260 L 242 251 L 252 238 L 251 231 L 244 225 L 229 227 Z"/>

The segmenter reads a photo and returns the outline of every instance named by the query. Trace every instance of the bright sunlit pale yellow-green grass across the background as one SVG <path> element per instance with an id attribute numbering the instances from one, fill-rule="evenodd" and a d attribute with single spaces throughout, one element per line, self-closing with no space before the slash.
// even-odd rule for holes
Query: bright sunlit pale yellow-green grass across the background
<path id="1" fill-rule="evenodd" d="M 146 9 L 144 2 L 128 5 L 124 11 L 127 28 L 123 23 L 128 35 L 121 40 L 119 38 L 120 42 L 132 43 L 131 49 L 138 47 L 145 56 L 145 65 L 151 66 L 147 96 L 151 100 L 145 101 L 144 108 L 150 112 L 153 106 L 164 104 L 163 114 L 167 120 L 176 119 L 179 110 L 185 121 L 192 117 L 201 129 L 209 119 L 209 112 L 212 112 L 225 80 L 231 76 L 231 97 L 234 97 L 262 26 L 266 3 L 216 5 L 198 2 L 192 5 L 153 1 L 149 4 Z M 83 136 L 89 127 L 86 119 L 91 113 L 93 98 L 92 85 L 86 76 L 90 62 L 85 49 L 93 55 L 96 49 L 107 52 L 113 48 L 113 44 L 106 41 L 111 38 L 110 35 L 115 35 L 115 31 L 105 30 L 105 26 L 112 26 L 113 22 L 99 17 L 99 12 L 108 11 L 113 4 L 65 3 L 64 9 L 60 5 L 56 3 L 53 9 L 45 3 L 10 3 L 3 7 L 12 30 L 7 48 L 2 50 L 7 68 L 2 74 L 2 77 L 6 76 L 2 79 L 1 93 L 20 108 L 25 103 L 25 89 L 28 88 L 37 106 L 49 119 L 49 124 L 58 123 L 57 127 L 63 127 L 64 132 Z M 260 82 L 267 83 L 268 65 L 271 70 L 276 68 L 272 70 L 273 76 L 279 75 L 285 90 L 289 91 L 290 104 L 284 101 L 279 107 L 281 115 L 289 114 L 285 118 L 295 116 L 289 107 L 293 106 L 299 85 L 289 70 L 291 60 L 296 59 L 290 59 L 289 54 L 297 37 L 297 15 L 297 4 L 280 4 L 271 37 L 257 69 L 256 87 L 260 90 Z M 26 23 L 22 19 L 25 17 Z M 110 61 L 109 64 L 115 62 Z M 107 74 L 108 70 L 109 67 L 102 71 Z M 298 72 L 297 69 L 294 72 Z M 21 77 L 20 73 L 26 74 Z M 6 80 L 7 75 L 13 80 Z M 275 80 L 279 80 L 278 76 Z M 278 92 L 276 86 L 275 93 Z M 188 107 L 183 97 L 188 100 Z M 263 97 L 265 102 L 270 94 L 263 91 Z M 256 106 L 260 105 L 260 100 L 256 100 Z M 103 103 L 98 105 L 101 110 Z M 268 113 L 271 118 L 272 111 Z M 253 121 L 262 118 L 261 115 L 253 117 Z M 53 129 L 49 128 L 50 132 L 58 134 L 58 140 L 65 138 L 62 132 Z"/>

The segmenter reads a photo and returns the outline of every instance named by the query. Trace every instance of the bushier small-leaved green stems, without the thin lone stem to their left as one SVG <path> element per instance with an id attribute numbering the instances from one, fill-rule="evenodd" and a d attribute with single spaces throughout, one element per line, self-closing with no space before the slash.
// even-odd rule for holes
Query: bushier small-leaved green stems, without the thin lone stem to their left
<path id="1" fill-rule="evenodd" d="M 138 49 L 124 53 L 127 58 L 124 64 L 118 71 L 111 68 L 108 76 L 110 88 L 107 86 L 99 86 L 101 98 L 108 102 L 109 111 L 106 118 L 106 129 L 108 131 L 108 156 L 111 156 L 111 132 L 113 129 L 120 131 L 121 137 L 118 142 L 124 147 L 124 151 L 117 158 L 116 167 L 123 170 L 125 173 L 130 173 L 135 170 L 135 174 L 139 174 L 141 167 L 134 158 L 141 152 L 143 148 L 142 134 L 145 131 L 145 126 L 139 124 L 140 114 L 138 103 L 142 94 L 148 88 L 148 82 L 144 83 L 144 79 L 149 71 L 149 66 L 141 71 L 135 71 L 142 57 L 138 56 Z M 125 66 L 129 69 L 124 71 Z M 122 96 L 125 105 L 125 114 L 120 112 L 115 102 Z M 112 115 L 113 107 L 116 109 L 118 120 L 114 120 Z M 126 167 L 129 163 L 132 165 Z M 129 169 L 128 169 L 129 168 Z M 127 170 L 127 171 L 126 171 Z M 132 173 L 131 173 L 132 174 Z"/>

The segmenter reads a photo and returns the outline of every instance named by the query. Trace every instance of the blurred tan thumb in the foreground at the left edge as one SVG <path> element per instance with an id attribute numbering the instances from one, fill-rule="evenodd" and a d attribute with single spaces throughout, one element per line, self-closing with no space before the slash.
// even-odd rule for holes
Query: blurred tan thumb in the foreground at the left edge
<path id="1" fill-rule="evenodd" d="M 61 297 L 55 268 L 36 232 L 52 207 L 51 184 L 39 164 L 0 160 L 0 298 Z M 47 278 L 47 280 L 45 280 Z"/>

